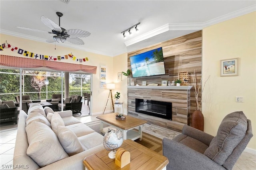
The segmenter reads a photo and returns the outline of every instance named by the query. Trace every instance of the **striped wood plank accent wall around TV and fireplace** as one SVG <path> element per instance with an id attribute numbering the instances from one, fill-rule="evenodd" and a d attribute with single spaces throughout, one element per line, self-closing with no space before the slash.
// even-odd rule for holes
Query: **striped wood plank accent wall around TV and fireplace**
<path id="1" fill-rule="evenodd" d="M 202 31 L 190 33 L 128 53 L 128 69 L 131 70 L 130 57 L 158 47 L 162 47 L 163 49 L 166 74 L 132 78 L 135 84 L 142 85 L 142 80 L 147 80 L 147 84 L 157 83 L 161 85 L 161 80 L 176 80 L 178 79 L 178 72 L 188 71 L 188 86 L 193 86 L 191 74 L 194 73 L 194 69 L 196 69 L 198 82 L 200 82 L 202 76 Z M 135 98 L 172 102 L 172 121 L 162 118 L 156 119 L 156 117 L 135 112 Z M 187 99 L 189 99 L 189 101 Z M 184 100 L 187 101 L 185 102 Z M 195 109 L 196 100 L 194 97 L 194 88 L 192 88 L 189 93 L 187 93 L 186 90 L 184 92 L 182 90 L 128 89 L 128 114 L 136 117 L 140 116 L 140 118 L 146 119 L 152 124 L 168 129 L 182 131 L 184 124 L 190 125 L 190 115 L 192 115 Z"/>

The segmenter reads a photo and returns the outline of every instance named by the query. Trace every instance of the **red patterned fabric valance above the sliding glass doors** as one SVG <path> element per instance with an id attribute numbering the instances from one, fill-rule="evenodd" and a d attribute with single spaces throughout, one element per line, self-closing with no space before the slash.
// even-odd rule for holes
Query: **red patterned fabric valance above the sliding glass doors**
<path id="1" fill-rule="evenodd" d="M 96 74 L 97 66 L 88 66 L 82 64 L 64 63 L 59 61 L 47 61 L 39 59 L 29 59 L 24 57 L 14 57 L 9 55 L 0 55 L 0 65 L 18 67 L 18 68 L 38 68 L 46 67 L 58 71 L 83 71 Z"/>

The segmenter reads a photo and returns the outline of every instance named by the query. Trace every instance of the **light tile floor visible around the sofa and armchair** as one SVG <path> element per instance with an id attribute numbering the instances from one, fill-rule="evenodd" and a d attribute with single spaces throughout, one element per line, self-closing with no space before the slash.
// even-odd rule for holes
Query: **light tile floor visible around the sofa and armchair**
<path id="1" fill-rule="evenodd" d="M 82 123 L 97 121 L 96 116 L 78 117 Z M 165 131 L 166 129 L 162 129 Z M 0 131 L 0 170 L 12 170 L 12 160 L 16 141 L 17 129 Z M 255 170 L 256 155 L 243 152 L 233 167 L 233 170 Z"/>

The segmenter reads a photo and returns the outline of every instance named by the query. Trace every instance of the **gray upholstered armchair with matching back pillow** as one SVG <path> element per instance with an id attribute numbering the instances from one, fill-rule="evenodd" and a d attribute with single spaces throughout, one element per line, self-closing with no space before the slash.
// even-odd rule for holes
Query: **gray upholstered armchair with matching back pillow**
<path id="1" fill-rule="evenodd" d="M 167 170 L 232 170 L 252 138 L 251 121 L 242 111 L 224 117 L 216 137 L 184 125 L 182 134 L 163 139 Z"/>

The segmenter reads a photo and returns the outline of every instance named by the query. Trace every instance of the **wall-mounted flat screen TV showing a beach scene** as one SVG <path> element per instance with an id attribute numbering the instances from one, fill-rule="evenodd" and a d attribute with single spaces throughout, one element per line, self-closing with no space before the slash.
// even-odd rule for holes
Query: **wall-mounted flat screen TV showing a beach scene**
<path id="1" fill-rule="evenodd" d="M 144 77 L 165 74 L 162 47 L 130 57 L 132 76 Z"/>

